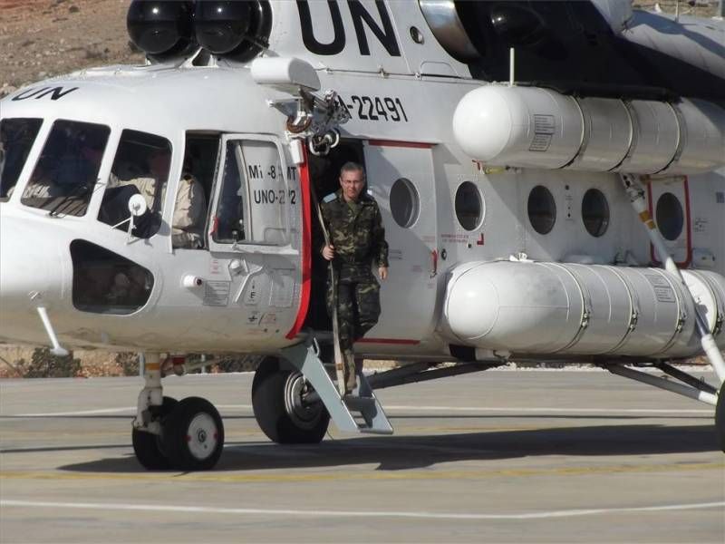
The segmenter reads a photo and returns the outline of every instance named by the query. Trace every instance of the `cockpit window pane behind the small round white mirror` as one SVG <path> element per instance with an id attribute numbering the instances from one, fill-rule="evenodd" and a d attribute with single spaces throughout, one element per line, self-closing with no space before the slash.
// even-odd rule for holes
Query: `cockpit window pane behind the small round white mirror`
<path id="1" fill-rule="evenodd" d="M 123 131 L 98 219 L 127 230 L 131 217 L 129 199 L 140 194 L 146 200 L 147 210 L 133 219 L 132 234 L 138 238 L 156 234 L 161 226 L 170 164 L 168 140 L 146 132 Z"/>

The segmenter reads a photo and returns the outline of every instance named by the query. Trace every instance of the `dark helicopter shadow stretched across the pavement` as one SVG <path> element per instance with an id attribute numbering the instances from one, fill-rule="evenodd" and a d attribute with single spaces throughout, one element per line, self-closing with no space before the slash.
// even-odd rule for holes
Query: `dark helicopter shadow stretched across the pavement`
<path id="1" fill-rule="evenodd" d="M 605 456 L 719 452 L 714 426 L 607 425 L 324 440 L 318 445 L 227 442 L 215 471 L 314 469 L 377 463 L 379 471 L 546 455 Z M 146 472 L 133 455 L 62 471 Z"/>

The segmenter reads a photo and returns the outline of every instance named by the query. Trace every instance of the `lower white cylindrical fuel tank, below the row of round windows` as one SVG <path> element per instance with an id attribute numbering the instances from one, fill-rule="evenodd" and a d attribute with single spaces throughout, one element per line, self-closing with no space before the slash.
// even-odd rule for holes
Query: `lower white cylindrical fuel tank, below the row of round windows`
<path id="1" fill-rule="evenodd" d="M 698 304 L 725 347 L 725 278 L 687 277 L 701 286 Z M 701 349 L 691 296 L 660 268 L 469 263 L 450 273 L 441 330 L 454 343 L 519 354 L 682 357 Z"/>

